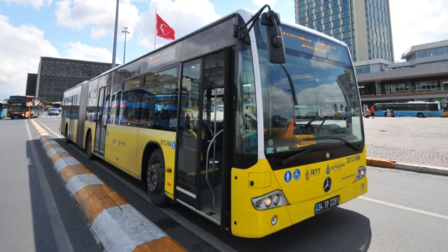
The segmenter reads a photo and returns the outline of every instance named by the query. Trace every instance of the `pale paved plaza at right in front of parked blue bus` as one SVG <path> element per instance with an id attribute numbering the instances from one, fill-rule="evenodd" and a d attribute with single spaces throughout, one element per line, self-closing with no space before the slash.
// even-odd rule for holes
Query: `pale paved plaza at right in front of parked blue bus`
<path id="1" fill-rule="evenodd" d="M 375 116 L 363 124 L 372 165 L 446 175 L 448 118 Z"/>

